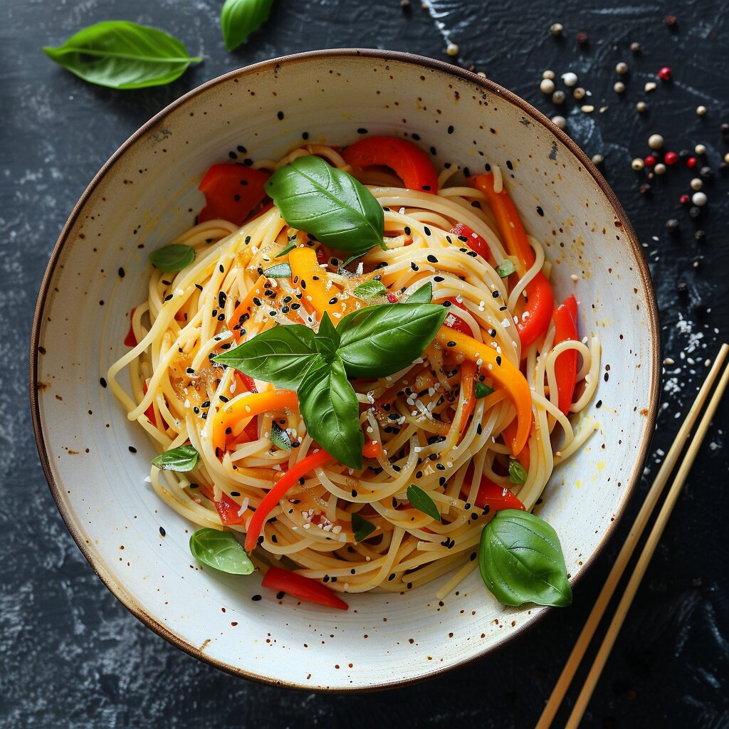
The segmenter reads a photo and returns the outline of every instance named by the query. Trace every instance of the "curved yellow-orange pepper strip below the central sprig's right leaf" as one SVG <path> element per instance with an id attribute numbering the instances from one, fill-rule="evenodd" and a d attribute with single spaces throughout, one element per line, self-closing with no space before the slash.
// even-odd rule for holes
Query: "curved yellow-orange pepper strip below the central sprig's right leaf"
<path id="1" fill-rule="evenodd" d="M 526 445 L 531 427 L 531 390 L 524 375 L 508 359 L 497 354 L 493 347 L 462 332 L 440 327 L 435 340 L 443 350 L 460 354 L 477 366 L 486 368 L 483 372 L 506 389 L 518 418 L 517 432 L 511 444 L 507 445 L 510 445 L 512 453 L 519 453 Z"/>

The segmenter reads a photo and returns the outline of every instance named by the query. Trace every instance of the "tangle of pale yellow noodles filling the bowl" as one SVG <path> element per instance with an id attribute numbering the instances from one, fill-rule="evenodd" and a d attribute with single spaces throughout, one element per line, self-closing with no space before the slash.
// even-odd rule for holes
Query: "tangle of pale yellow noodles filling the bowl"
<path id="1" fill-rule="evenodd" d="M 287 405 L 257 418 L 243 418 L 233 427 L 230 445 L 225 449 L 214 445 L 216 414 L 248 392 L 245 378 L 232 367 L 224 370 L 210 361 L 211 355 L 235 346 L 235 332 L 226 322 L 238 304 L 255 297 L 250 318 L 237 332 L 241 341 L 276 324 L 318 325 L 311 297 L 302 295 L 291 278 L 266 279 L 260 271 L 285 261 L 285 257 L 275 259 L 276 254 L 292 243 L 319 249 L 322 277 L 337 298 L 331 307 L 335 324 L 348 311 L 386 301 L 384 297 L 359 300 L 353 294 L 354 287 L 375 272 L 397 300 L 405 300 L 430 281 L 434 303 L 454 300 L 459 308 L 453 311 L 475 339 L 496 348 L 515 367 L 522 363 L 534 416 L 525 482 L 515 485 L 505 475 L 510 448 L 501 434 L 515 418 L 510 399 L 499 389 L 476 399 L 459 434 L 451 426 L 466 407 L 459 359 L 434 341 L 421 358 L 396 375 L 353 381 L 363 405 L 360 423 L 365 438 L 381 443 L 382 452 L 364 459 L 359 472 L 337 463 L 310 472 L 268 514 L 252 558 L 264 571 L 270 564 L 288 565 L 305 577 L 324 580 L 332 590 L 348 593 L 399 592 L 450 573 L 451 579 L 438 593 L 442 598 L 478 564 L 480 534 L 493 517 L 493 512 L 474 505 L 481 477 L 509 488 L 530 511 L 555 464 L 580 448 L 596 429 L 596 424 L 585 421 L 575 432 L 559 410 L 555 361 L 564 351 L 578 353 L 577 399 L 571 410 L 579 413 L 598 383 L 599 340 L 569 340 L 553 347 L 552 325 L 545 337 L 522 351 L 515 326 L 523 303 L 520 297 L 531 278 L 548 267 L 542 269 L 542 246 L 531 239 L 536 262 L 509 290 L 508 278 L 500 278 L 449 233 L 456 223 L 464 223 L 486 240 L 494 261 L 507 258 L 483 192 L 443 187 L 448 171 L 440 176 L 437 195 L 405 190 L 390 174 L 352 171 L 335 149 L 320 145 L 296 149 L 278 161 L 259 160 L 254 167 L 273 170 L 311 154 L 357 174 L 368 186 L 383 206 L 387 250 L 370 250 L 349 267 L 356 271 L 348 273 L 312 236 L 288 227 L 276 207 L 240 228 L 222 219 L 195 225 L 171 241 L 191 246 L 195 261 L 179 273 L 153 270 L 147 300 L 136 307 L 131 321 L 138 344 L 109 368 L 109 386 L 128 418 L 139 422 L 160 452 L 189 442 L 200 454 L 192 472 L 152 467 L 152 487 L 165 504 L 192 523 L 222 529 L 214 502 L 227 498 L 240 507 L 242 522 L 227 528 L 244 532 L 273 483 L 307 455 L 312 443 L 297 408 Z M 496 172 L 494 179 L 500 185 L 501 174 Z M 477 204 L 472 205 L 474 201 Z M 131 395 L 117 381 L 125 367 Z M 482 374 L 490 384 L 488 372 Z M 255 386 L 259 391 L 273 389 L 260 381 Z M 293 442 L 290 451 L 270 440 L 273 421 L 288 432 Z M 411 483 L 431 496 L 440 510 L 440 522 L 410 506 L 405 491 Z M 355 541 L 354 512 L 377 527 L 372 537 Z"/>

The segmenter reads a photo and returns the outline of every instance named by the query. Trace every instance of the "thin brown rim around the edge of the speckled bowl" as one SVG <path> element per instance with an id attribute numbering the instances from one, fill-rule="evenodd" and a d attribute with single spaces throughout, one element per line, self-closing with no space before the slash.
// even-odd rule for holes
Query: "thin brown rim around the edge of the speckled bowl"
<path id="1" fill-rule="evenodd" d="M 98 171 L 97 174 L 95 174 L 93 180 L 90 182 L 86 190 L 83 192 L 81 197 L 79 198 L 79 201 L 74 206 L 73 211 L 71 211 L 71 215 L 69 216 L 69 219 L 66 221 L 65 225 L 63 225 L 63 229 L 61 230 L 60 235 L 58 236 L 58 241 L 56 241 L 55 246 L 52 250 L 50 261 L 47 266 L 47 270 L 44 274 L 43 281 L 41 284 L 41 288 L 38 295 L 38 303 L 36 305 L 36 311 L 33 321 L 33 330 L 31 332 L 31 353 L 30 353 L 30 396 L 31 396 L 31 417 L 33 420 L 33 429 L 35 433 L 36 438 L 36 446 L 38 448 L 38 453 L 40 456 L 40 461 L 42 464 L 43 472 L 46 477 L 46 480 L 48 482 L 48 486 L 50 488 L 50 492 L 53 496 L 53 499 L 55 501 L 56 506 L 58 507 L 58 511 L 61 512 L 61 517 L 63 518 L 63 521 L 66 523 L 66 528 L 71 533 L 71 537 L 73 537 L 74 542 L 76 542 L 77 546 L 79 547 L 79 550 L 81 550 L 82 555 L 86 558 L 87 562 L 91 565 L 93 570 L 98 575 L 99 579 L 101 579 L 101 582 L 104 582 L 104 585 L 106 585 L 107 588 L 112 592 L 112 594 L 139 620 L 141 620 L 144 625 L 147 626 L 147 628 L 150 628 L 152 631 L 155 631 L 158 635 L 162 636 L 165 640 L 173 644 L 174 646 L 184 650 L 184 652 L 187 652 L 189 655 L 194 656 L 195 658 L 198 658 L 199 660 L 203 660 L 206 663 L 209 663 L 211 666 L 215 666 L 216 668 L 219 668 L 222 671 L 226 671 L 229 674 L 233 674 L 234 676 L 238 677 L 244 677 L 246 679 L 251 679 L 253 681 L 257 681 L 266 685 L 270 686 L 279 686 L 279 687 L 286 687 L 296 690 L 305 690 L 309 692 L 316 692 L 316 693 L 367 693 L 370 691 L 375 690 L 386 690 L 401 686 L 407 686 L 407 685 L 413 685 L 415 683 L 433 679 L 437 676 L 440 676 L 442 674 L 447 673 L 448 671 L 453 671 L 456 668 L 462 668 L 463 666 L 467 666 L 467 664 L 472 663 L 475 660 L 478 660 L 480 658 L 483 658 L 488 653 L 494 652 L 494 650 L 498 650 L 499 648 L 504 647 L 505 644 L 508 642 L 511 642 L 512 639 L 515 639 L 516 636 L 520 635 L 523 631 L 526 631 L 529 628 L 533 628 L 534 625 L 539 623 L 540 620 L 542 620 L 545 615 L 549 612 L 548 609 L 540 609 L 539 615 L 535 617 L 533 620 L 529 621 L 529 623 L 526 623 L 525 625 L 521 625 L 518 628 L 515 628 L 513 631 L 509 631 L 507 634 L 505 634 L 504 638 L 501 639 L 499 642 L 496 642 L 495 644 L 485 648 L 483 651 L 479 652 L 477 655 L 472 656 L 471 658 L 467 658 L 464 660 L 461 660 L 459 663 L 454 664 L 453 666 L 447 666 L 444 668 L 439 668 L 435 671 L 432 671 L 429 674 L 426 674 L 424 676 L 420 677 L 414 677 L 414 678 L 405 678 L 405 679 L 393 679 L 392 681 L 373 684 L 371 686 L 367 687 L 324 687 L 324 686 L 311 686 L 311 685 L 305 685 L 302 683 L 295 683 L 295 682 L 284 682 L 284 681 L 278 681 L 276 679 L 271 679 L 270 677 L 261 676 L 258 674 L 254 674 L 251 671 L 243 670 L 243 668 L 238 668 L 237 666 L 231 666 L 229 663 L 225 663 L 225 661 L 218 660 L 217 658 L 212 658 L 211 656 L 206 655 L 203 651 L 196 648 L 195 646 L 192 646 L 190 643 L 184 641 L 182 638 L 177 636 L 176 634 L 172 633 L 168 630 L 168 628 L 165 628 L 164 625 L 159 623 L 152 615 L 149 615 L 147 612 L 142 609 L 139 604 L 136 603 L 136 601 L 133 599 L 133 596 L 131 596 L 127 590 L 123 589 L 121 585 L 118 585 L 117 582 L 112 577 L 112 573 L 109 571 L 109 569 L 106 568 L 104 563 L 99 560 L 95 555 L 93 555 L 92 551 L 88 547 L 88 545 L 85 542 L 84 536 L 77 531 L 77 529 L 74 526 L 73 520 L 71 518 L 71 515 L 69 511 L 66 508 L 66 504 L 63 502 L 63 497 L 61 496 L 61 489 L 58 488 L 58 484 L 55 483 L 55 479 L 52 475 L 52 471 L 50 468 L 50 459 L 48 456 L 47 449 L 45 447 L 44 439 L 43 439 L 43 430 L 41 425 L 41 418 L 40 418 L 40 404 L 39 404 L 39 396 L 38 396 L 38 346 L 39 346 L 39 338 L 40 338 L 40 330 L 41 330 L 41 322 L 42 322 L 42 314 L 44 311 L 45 303 L 47 301 L 48 292 L 50 289 L 50 281 L 55 273 L 56 265 L 58 264 L 58 260 L 61 256 L 61 251 L 63 249 L 63 246 L 66 245 L 67 238 L 69 236 L 69 233 L 71 231 L 71 228 L 74 226 L 74 223 L 76 222 L 80 211 L 82 210 L 83 206 L 87 202 L 88 198 L 90 197 L 91 193 L 95 189 L 95 187 L 98 185 L 99 182 L 101 182 L 101 179 L 104 178 L 104 176 L 112 169 L 114 166 L 114 163 L 126 152 L 126 150 L 131 147 L 141 136 L 143 136 L 147 131 L 154 128 L 155 125 L 157 125 L 159 122 L 161 122 L 168 114 L 173 112 L 175 109 L 178 109 L 181 106 L 184 106 L 184 104 L 187 103 L 187 101 L 190 101 L 190 99 L 195 98 L 200 93 L 203 93 L 207 91 L 208 89 L 226 82 L 229 79 L 233 79 L 236 77 L 244 77 L 247 74 L 251 74 L 255 71 L 261 71 L 261 70 L 268 70 L 273 69 L 278 66 L 282 66 L 284 64 L 289 63 L 300 63 L 303 61 L 310 61 L 313 58 L 377 58 L 382 61 L 397 61 L 399 63 L 410 63 L 413 66 L 421 66 L 426 69 L 434 69 L 437 71 L 443 71 L 446 74 L 451 74 L 455 77 L 459 77 L 461 79 L 464 79 L 464 81 L 471 82 L 472 84 L 475 84 L 477 87 L 481 87 L 493 94 L 499 95 L 503 97 L 506 101 L 509 101 L 510 103 L 514 104 L 515 106 L 518 106 L 519 109 L 521 109 L 524 114 L 529 115 L 533 120 L 539 123 L 542 127 L 545 127 L 547 130 L 549 130 L 551 133 L 553 133 L 554 136 L 556 136 L 559 141 L 564 144 L 564 146 L 569 149 L 572 154 L 577 157 L 577 160 L 582 164 L 582 166 L 585 168 L 585 171 L 590 174 L 595 182 L 598 184 L 601 192 L 605 195 L 607 200 L 609 201 L 610 205 L 612 206 L 613 211 L 615 212 L 615 216 L 617 217 L 617 220 L 620 222 L 622 226 L 623 233 L 625 234 L 625 238 L 628 242 L 628 244 L 631 246 L 634 252 L 634 258 L 636 261 L 636 265 L 638 268 L 638 273 L 640 275 L 640 278 L 642 280 L 643 284 L 643 295 L 645 297 L 646 303 L 648 305 L 648 313 L 650 318 L 650 340 L 652 343 L 652 362 L 651 364 L 651 385 L 650 385 L 650 406 L 648 408 L 648 414 L 645 418 L 645 426 L 644 426 L 644 433 L 642 438 L 642 443 L 640 444 L 639 451 L 636 458 L 636 465 L 633 469 L 633 472 L 631 473 L 628 482 L 625 483 L 625 488 L 623 490 L 623 498 L 620 502 L 620 506 L 618 507 L 614 521 L 609 523 L 607 526 L 605 533 L 601 539 L 601 542 L 596 547 L 595 551 L 590 555 L 590 557 L 585 561 L 585 564 L 582 566 L 582 569 L 580 569 L 579 574 L 575 576 L 571 582 L 572 585 L 577 584 L 577 582 L 580 581 L 582 578 L 582 575 L 585 574 L 590 566 L 595 561 L 597 555 L 601 552 L 601 550 L 604 549 L 605 545 L 607 545 L 607 542 L 609 541 L 609 538 L 612 536 L 613 531 L 615 530 L 615 527 L 617 526 L 618 521 L 620 521 L 620 518 L 623 515 L 623 512 L 625 512 L 625 507 L 628 504 L 628 501 L 630 500 L 630 496 L 633 494 L 635 490 L 636 483 L 639 480 L 639 477 L 642 473 L 643 464 L 648 454 L 648 449 L 650 447 L 650 442 L 652 439 L 652 433 L 655 425 L 655 418 L 658 413 L 658 397 L 659 397 L 659 380 L 660 380 L 660 331 L 659 331 L 659 320 L 658 320 L 658 306 L 656 304 L 655 300 L 655 291 L 653 289 L 652 280 L 650 278 L 650 271 L 648 270 L 648 266 L 645 262 L 645 259 L 643 257 L 643 251 L 642 247 L 638 241 L 638 238 L 636 237 L 636 234 L 633 230 L 633 227 L 631 226 L 630 221 L 628 220 L 627 215 L 625 214 L 625 211 L 623 210 L 623 206 L 620 205 L 620 203 L 617 200 L 617 197 L 615 195 L 615 192 L 612 191 L 612 188 L 609 186 L 607 181 L 604 179 L 604 177 L 600 174 L 599 170 L 596 168 L 596 166 L 592 163 L 590 158 L 585 155 L 585 152 L 582 152 L 582 149 L 577 146 L 577 143 L 574 142 L 572 139 L 569 138 L 569 136 L 564 133 L 560 128 L 558 128 L 550 119 L 545 117 L 542 112 L 539 112 L 537 109 L 534 108 L 534 106 L 531 106 L 528 102 L 524 101 L 523 98 L 515 95 L 510 90 L 505 89 L 504 87 L 496 84 L 495 82 L 486 79 L 485 77 L 478 76 L 475 73 L 472 73 L 472 71 L 467 71 L 466 69 L 461 69 L 459 66 L 454 66 L 451 63 L 446 63 L 445 61 L 437 61 L 434 58 L 426 58 L 425 56 L 421 55 L 415 55 L 412 53 L 405 53 L 400 51 L 393 51 L 393 50 L 378 50 L 378 49 L 370 49 L 370 48 L 343 48 L 343 49 L 327 49 L 327 50 L 314 50 L 314 51 L 307 51 L 303 53 L 296 53 L 293 55 L 286 55 L 282 56 L 281 58 L 272 58 L 268 61 L 261 61 L 260 63 L 253 63 L 250 66 L 243 66 L 241 69 L 235 69 L 234 71 L 229 71 L 226 74 L 222 74 L 222 76 L 215 77 L 214 79 L 211 79 L 202 85 L 195 87 L 194 89 L 190 90 L 186 94 L 182 95 L 180 98 L 176 99 L 176 101 L 173 101 L 168 106 L 165 106 L 164 109 L 162 109 L 160 112 L 155 114 L 152 119 L 150 119 L 148 122 L 146 122 L 144 125 L 142 125 L 138 130 L 136 130 L 135 133 L 132 134 L 132 136 L 129 137 L 120 147 L 117 149 L 114 154 L 109 157 L 109 160 L 104 163 L 104 166 Z"/>

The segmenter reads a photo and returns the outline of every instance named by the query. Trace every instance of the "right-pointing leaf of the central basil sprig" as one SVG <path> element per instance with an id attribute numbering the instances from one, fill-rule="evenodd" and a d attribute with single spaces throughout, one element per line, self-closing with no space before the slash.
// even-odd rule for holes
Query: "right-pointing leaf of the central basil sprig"
<path id="1" fill-rule="evenodd" d="M 337 354 L 350 377 L 392 375 L 423 354 L 448 311 L 439 304 L 375 304 L 339 322 Z"/>

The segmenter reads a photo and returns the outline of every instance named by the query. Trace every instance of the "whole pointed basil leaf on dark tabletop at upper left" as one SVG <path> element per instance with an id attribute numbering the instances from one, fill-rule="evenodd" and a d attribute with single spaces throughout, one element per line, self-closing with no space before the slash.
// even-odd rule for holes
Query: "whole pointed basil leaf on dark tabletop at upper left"
<path id="1" fill-rule="evenodd" d="M 128 20 L 96 23 L 43 51 L 84 81 L 112 89 L 162 86 L 203 60 L 191 58 L 179 40 L 163 31 Z"/>

